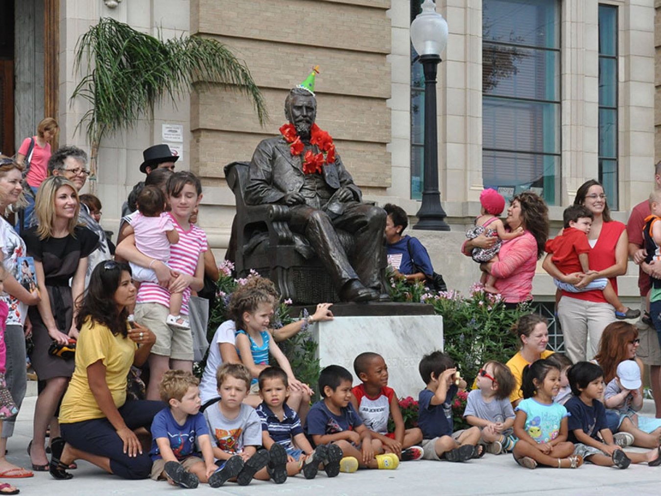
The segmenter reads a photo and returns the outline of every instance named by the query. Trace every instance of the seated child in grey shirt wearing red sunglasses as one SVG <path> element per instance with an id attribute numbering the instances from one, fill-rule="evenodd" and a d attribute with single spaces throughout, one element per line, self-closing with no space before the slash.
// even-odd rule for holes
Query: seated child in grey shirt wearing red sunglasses
<path id="1" fill-rule="evenodd" d="M 500 362 L 486 362 L 475 379 L 477 389 L 468 394 L 463 417 L 481 430 L 481 442 L 492 454 L 510 452 L 516 438 L 514 410 L 510 394 L 516 380 L 510 369 Z"/>

